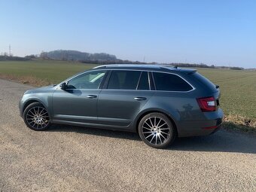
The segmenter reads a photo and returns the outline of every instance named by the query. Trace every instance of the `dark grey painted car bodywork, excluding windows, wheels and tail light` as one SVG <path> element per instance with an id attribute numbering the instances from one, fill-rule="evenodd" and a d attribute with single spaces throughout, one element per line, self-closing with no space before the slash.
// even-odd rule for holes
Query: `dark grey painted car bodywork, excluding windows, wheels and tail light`
<path id="1" fill-rule="evenodd" d="M 20 114 L 31 102 L 41 102 L 47 108 L 52 123 L 90 126 L 111 130 L 136 132 L 141 117 L 152 111 L 167 114 L 175 124 L 178 136 L 203 136 L 214 130 L 203 127 L 221 123 L 221 108 L 202 112 L 197 98 L 220 96 L 219 89 L 194 78 L 193 69 L 175 69 L 159 66 L 101 66 L 96 70 L 140 70 L 166 72 L 180 76 L 193 90 L 187 92 L 159 90 L 108 90 L 104 82 L 94 90 L 62 90 L 60 84 L 41 87 L 24 93 L 20 100 Z M 74 76 L 75 77 L 75 76 Z M 67 82 L 72 78 L 69 78 Z M 61 83 L 62 84 L 62 83 Z"/>

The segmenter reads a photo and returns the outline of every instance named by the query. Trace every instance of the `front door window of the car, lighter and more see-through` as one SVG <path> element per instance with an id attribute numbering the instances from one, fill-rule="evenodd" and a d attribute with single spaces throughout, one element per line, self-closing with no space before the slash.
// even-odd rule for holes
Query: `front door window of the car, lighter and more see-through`
<path id="1" fill-rule="evenodd" d="M 105 71 L 87 72 L 69 80 L 68 89 L 98 89 Z"/>

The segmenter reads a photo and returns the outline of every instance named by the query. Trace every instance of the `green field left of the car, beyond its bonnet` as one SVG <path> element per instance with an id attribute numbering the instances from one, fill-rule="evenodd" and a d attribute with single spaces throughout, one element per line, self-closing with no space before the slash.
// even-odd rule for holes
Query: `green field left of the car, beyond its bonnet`
<path id="1" fill-rule="evenodd" d="M 14 79 L 24 80 L 29 77 L 44 81 L 44 84 L 56 84 L 95 66 L 97 65 L 55 60 L 0 61 L 0 75 L 11 75 Z"/>

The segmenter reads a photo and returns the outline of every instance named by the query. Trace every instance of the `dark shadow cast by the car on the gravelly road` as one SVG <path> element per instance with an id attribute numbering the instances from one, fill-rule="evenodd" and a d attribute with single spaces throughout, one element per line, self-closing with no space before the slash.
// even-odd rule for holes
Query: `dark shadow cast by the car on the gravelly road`
<path id="1" fill-rule="evenodd" d="M 118 139 L 141 141 L 137 133 L 94 129 L 81 126 L 53 125 L 49 132 L 76 132 L 93 136 L 105 136 Z M 145 145 L 144 145 L 145 147 Z M 219 130 L 210 136 L 194 136 L 177 138 L 175 142 L 164 150 L 169 151 L 216 151 L 256 154 L 256 136 L 248 133 L 235 133 Z"/>

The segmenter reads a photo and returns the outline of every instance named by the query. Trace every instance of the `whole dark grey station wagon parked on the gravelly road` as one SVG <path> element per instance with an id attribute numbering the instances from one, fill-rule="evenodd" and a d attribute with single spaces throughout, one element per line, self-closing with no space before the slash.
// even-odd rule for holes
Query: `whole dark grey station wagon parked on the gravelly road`
<path id="1" fill-rule="evenodd" d="M 219 129 L 220 90 L 194 69 L 160 65 L 108 65 L 58 85 L 28 90 L 20 115 L 32 130 L 51 123 L 139 133 L 153 148 L 175 137 Z"/>

